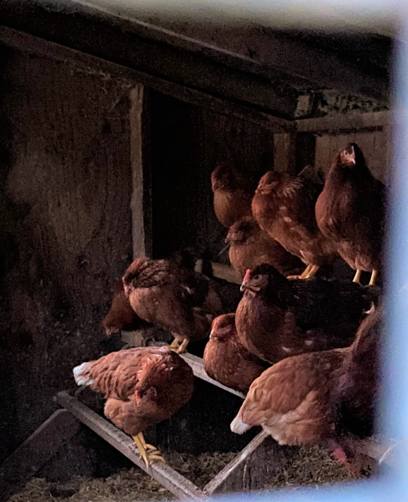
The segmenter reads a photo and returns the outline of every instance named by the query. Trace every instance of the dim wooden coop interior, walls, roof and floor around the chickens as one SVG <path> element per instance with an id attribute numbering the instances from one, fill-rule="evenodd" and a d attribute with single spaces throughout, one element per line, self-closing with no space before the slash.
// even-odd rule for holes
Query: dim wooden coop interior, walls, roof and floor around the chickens
<path id="1" fill-rule="evenodd" d="M 191 398 L 145 431 L 166 463 L 146 469 L 103 396 L 77 387 L 84 361 L 172 340 L 157 325 L 108 337 L 101 324 L 136 258 L 188 248 L 223 313 L 237 309 L 218 165 L 258 181 L 307 169 L 324 183 L 352 143 L 377 180 L 390 175 L 389 33 L 132 12 L 97 0 L 0 5 L 0 498 L 199 499 L 375 476 L 389 438 L 349 438 L 351 469 L 320 443 L 279 446 L 260 426 L 234 434 L 245 394 L 203 369 L 210 328 L 180 356 Z M 339 260 L 307 280 L 354 273 Z"/>

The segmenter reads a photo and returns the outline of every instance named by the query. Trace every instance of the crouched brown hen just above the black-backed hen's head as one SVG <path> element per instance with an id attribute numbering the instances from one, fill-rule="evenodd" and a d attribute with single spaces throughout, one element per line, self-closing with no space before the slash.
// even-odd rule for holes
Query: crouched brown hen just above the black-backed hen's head
<path id="1" fill-rule="evenodd" d="M 248 269 L 269 263 L 281 274 L 298 275 L 302 262 L 262 230 L 252 216 L 236 221 L 228 232 L 230 262 L 243 279 Z"/>

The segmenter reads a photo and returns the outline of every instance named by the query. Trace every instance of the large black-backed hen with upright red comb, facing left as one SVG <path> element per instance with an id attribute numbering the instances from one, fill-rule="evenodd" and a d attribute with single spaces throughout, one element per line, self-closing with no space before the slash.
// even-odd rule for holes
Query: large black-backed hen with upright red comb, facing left
<path id="1" fill-rule="evenodd" d="M 352 282 L 289 281 L 267 264 L 247 271 L 241 291 L 238 336 L 250 352 L 270 363 L 350 345 L 378 293 Z"/>

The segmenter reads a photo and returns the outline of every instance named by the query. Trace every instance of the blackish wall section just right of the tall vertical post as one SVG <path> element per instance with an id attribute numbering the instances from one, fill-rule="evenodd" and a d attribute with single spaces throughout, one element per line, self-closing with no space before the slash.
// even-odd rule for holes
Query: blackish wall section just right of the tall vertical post
<path id="1" fill-rule="evenodd" d="M 273 168 L 273 134 L 253 122 L 152 92 L 151 140 L 153 256 L 193 246 L 215 260 L 226 230 L 214 214 L 211 172 L 219 162 L 232 160 L 261 176 Z"/>

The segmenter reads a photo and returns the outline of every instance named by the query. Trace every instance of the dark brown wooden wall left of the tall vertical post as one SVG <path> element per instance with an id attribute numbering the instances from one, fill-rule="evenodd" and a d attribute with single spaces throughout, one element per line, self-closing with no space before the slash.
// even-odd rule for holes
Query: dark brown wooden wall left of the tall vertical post
<path id="1" fill-rule="evenodd" d="M 111 284 L 132 259 L 132 181 L 127 82 L 1 52 L 4 456 L 100 354 Z"/>

